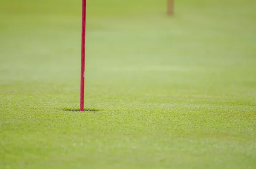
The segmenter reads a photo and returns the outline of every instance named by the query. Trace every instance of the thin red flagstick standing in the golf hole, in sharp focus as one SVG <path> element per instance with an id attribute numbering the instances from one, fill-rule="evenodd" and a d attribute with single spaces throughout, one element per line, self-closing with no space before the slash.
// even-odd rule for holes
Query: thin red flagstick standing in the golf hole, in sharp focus
<path id="1" fill-rule="evenodd" d="M 86 29 L 86 0 L 82 8 L 82 42 L 81 42 L 81 84 L 80 84 L 80 111 L 84 111 L 84 62 L 85 62 L 85 29 Z"/>

